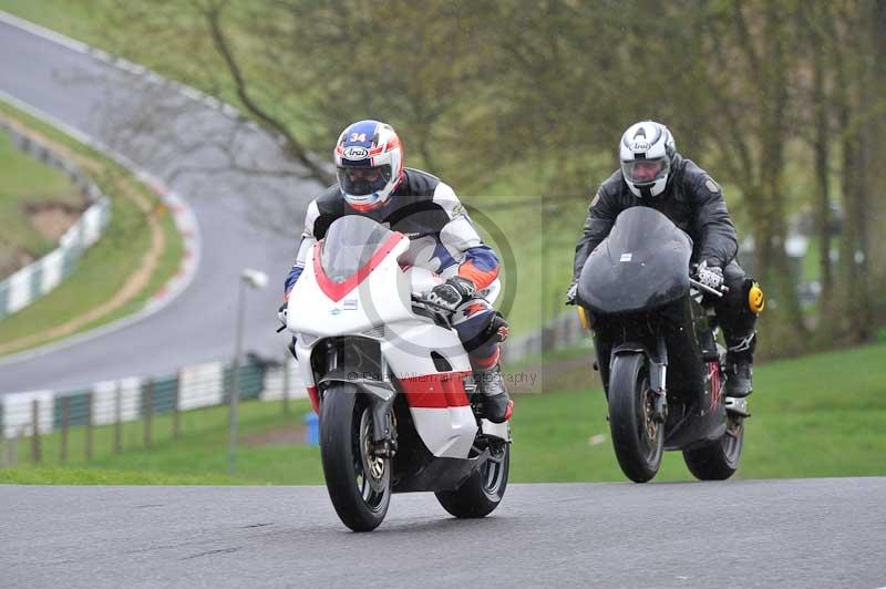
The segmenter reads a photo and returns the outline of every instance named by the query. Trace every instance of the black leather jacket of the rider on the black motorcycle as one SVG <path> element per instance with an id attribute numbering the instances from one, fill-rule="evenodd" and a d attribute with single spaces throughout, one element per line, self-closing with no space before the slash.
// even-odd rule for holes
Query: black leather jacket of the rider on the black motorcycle
<path id="1" fill-rule="evenodd" d="M 739 251 L 735 227 L 729 217 L 722 189 L 694 162 L 677 154 L 668 186 L 658 196 L 635 196 L 620 169 L 600 185 L 588 207 L 585 229 L 575 247 L 575 279 L 578 279 L 594 248 L 609 235 L 618 214 L 630 207 L 651 207 L 667 215 L 692 238 L 694 261 L 709 260 L 709 265 L 724 268 Z"/>

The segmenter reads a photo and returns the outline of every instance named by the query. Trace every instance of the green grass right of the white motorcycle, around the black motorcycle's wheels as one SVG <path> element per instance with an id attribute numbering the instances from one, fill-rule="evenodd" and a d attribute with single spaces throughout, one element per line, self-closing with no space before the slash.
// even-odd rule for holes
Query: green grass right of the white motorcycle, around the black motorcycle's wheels
<path id="1" fill-rule="evenodd" d="M 886 475 L 884 354 L 886 345 L 876 344 L 759 366 L 735 477 Z M 602 441 L 594 444 L 595 435 Z M 513 461 L 519 480 L 626 479 L 599 389 L 521 397 Z M 669 452 L 656 480 L 692 476 L 682 456 Z"/>

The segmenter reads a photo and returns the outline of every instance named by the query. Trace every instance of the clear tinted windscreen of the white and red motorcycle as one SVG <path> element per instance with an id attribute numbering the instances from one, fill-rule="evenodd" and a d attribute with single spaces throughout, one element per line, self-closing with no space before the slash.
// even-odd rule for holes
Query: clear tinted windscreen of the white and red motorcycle
<path id="1" fill-rule="evenodd" d="M 337 285 L 344 282 L 367 266 L 393 235 L 367 217 L 348 215 L 336 219 L 329 226 L 320 250 L 323 273 Z"/>

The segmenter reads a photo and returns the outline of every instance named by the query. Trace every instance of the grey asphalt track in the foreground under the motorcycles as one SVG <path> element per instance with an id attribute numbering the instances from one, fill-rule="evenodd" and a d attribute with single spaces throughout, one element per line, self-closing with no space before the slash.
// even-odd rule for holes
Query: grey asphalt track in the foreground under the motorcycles
<path id="1" fill-rule="evenodd" d="M 348 531 L 324 487 L 0 486 L 0 586 L 886 586 L 886 478 L 513 485 L 483 520 L 395 495 Z"/>

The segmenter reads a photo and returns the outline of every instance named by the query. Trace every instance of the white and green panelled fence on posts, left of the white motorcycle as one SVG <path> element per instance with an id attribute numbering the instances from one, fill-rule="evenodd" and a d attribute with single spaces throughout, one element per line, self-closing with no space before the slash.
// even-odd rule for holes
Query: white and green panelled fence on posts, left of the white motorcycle
<path id="1" fill-rule="evenodd" d="M 0 465 L 20 459 L 65 463 L 74 448 L 89 461 L 96 453 L 177 438 L 187 428 L 218 422 L 218 414 L 206 415 L 200 410 L 229 403 L 235 381 L 241 401 L 281 400 L 282 411 L 288 413 L 290 400 L 308 395 L 298 364 L 287 356 L 268 362 L 247 355 L 237 379 L 233 378 L 233 363 L 208 362 L 175 374 L 2 395 Z"/>

